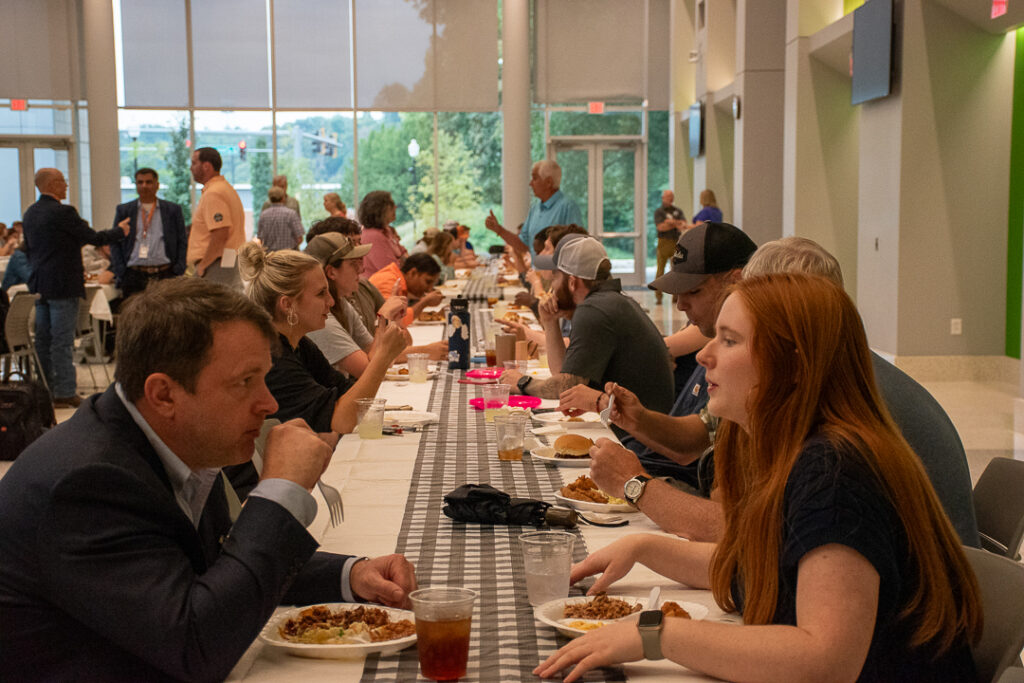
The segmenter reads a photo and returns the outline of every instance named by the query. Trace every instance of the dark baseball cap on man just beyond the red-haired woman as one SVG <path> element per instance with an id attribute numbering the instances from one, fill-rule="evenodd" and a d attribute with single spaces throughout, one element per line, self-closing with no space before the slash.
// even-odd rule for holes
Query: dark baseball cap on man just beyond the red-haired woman
<path id="1" fill-rule="evenodd" d="M 647 287 L 666 294 L 684 294 L 699 287 L 708 275 L 743 267 L 757 249 L 735 225 L 701 223 L 679 238 L 672 270 Z"/>

